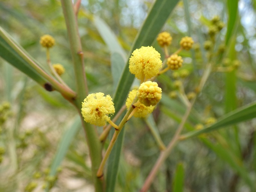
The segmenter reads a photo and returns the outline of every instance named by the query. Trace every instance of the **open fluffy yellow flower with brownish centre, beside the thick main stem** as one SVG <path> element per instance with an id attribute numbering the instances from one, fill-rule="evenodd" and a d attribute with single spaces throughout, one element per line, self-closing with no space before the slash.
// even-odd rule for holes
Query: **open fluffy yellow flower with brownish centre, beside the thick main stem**
<path id="1" fill-rule="evenodd" d="M 82 102 L 81 113 L 84 121 L 87 123 L 104 126 L 106 121 L 110 120 L 108 114 L 114 114 L 114 103 L 110 95 L 104 96 L 104 93 L 89 94 Z"/>

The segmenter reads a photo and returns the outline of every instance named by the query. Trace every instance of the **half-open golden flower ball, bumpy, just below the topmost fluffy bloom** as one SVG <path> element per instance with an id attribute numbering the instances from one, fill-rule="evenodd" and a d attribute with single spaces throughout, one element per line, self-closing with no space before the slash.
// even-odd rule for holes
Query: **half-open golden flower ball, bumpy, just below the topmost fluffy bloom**
<path id="1" fill-rule="evenodd" d="M 146 81 L 139 86 L 137 97 L 145 106 L 155 106 L 162 97 L 162 89 L 156 82 Z"/>

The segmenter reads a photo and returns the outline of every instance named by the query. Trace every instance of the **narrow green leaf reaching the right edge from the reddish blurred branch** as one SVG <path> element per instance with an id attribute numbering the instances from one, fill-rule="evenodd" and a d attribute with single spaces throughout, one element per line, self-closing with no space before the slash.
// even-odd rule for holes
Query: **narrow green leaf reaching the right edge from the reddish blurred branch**
<path id="1" fill-rule="evenodd" d="M 216 123 L 197 131 L 191 131 L 183 134 L 181 139 L 188 139 L 198 136 L 202 133 L 209 133 L 218 130 L 224 126 L 230 126 L 256 117 L 256 102 L 238 108 L 221 117 Z"/>

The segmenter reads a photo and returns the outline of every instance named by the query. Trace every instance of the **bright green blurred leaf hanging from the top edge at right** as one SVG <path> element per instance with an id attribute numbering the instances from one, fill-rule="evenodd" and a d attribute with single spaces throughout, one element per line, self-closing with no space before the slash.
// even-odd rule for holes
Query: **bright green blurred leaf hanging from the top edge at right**
<path id="1" fill-rule="evenodd" d="M 228 0 L 227 1 L 228 6 L 228 26 L 227 26 L 227 32 L 226 32 L 226 45 L 229 42 L 229 39 L 232 36 L 232 32 L 234 30 L 235 21 L 237 18 L 237 10 L 238 10 L 238 0 Z"/>

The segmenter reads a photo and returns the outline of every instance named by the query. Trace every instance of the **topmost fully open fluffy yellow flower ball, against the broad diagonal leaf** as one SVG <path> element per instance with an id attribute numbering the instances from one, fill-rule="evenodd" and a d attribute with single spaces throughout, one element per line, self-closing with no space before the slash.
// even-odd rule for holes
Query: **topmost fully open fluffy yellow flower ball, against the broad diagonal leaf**
<path id="1" fill-rule="evenodd" d="M 132 56 L 129 59 L 129 69 L 132 74 L 139 80 L 142 73 L 145 78 L 149 79 L 158 74 L 159 69 L 162 67 L 162 61 L 160 59 L 160 53 L 158 53 L 153 47 L 141 47 L 133 51 Z"/>

